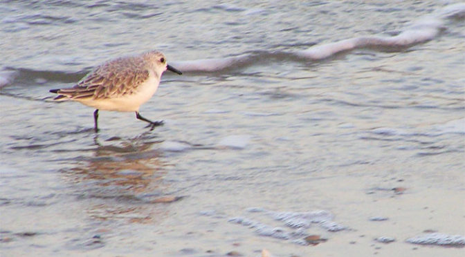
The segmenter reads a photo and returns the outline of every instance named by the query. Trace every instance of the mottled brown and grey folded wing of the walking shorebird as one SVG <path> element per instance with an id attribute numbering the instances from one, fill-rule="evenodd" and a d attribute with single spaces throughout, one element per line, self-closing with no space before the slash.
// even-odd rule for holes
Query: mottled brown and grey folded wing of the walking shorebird
<path id="1" fill-rule="evenodd" d="M 149 70 L 133 59 L 116 59 L 96 67 L 72 88 L 62 88 L 57 93 L 74 100 L 123 96 L 134 93 L 149 75 Z"/>

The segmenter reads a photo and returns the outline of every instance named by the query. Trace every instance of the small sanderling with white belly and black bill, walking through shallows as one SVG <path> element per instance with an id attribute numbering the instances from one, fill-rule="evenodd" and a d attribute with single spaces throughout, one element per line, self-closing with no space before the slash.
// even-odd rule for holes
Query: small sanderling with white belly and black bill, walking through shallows
<path id="1" fill-rule="evenodd" d="M 95 108 L 95 132 L 98 132 L 98 110 L 135 111 L 138 120 L 149 122 L 153 129 L 162 125 L 163 121 L 147 120 L 140 115 L 139 107 L 154 95 L 165 70 L 182 74 L 166 63 L 163 53 L 149 51 L 107 61 L 95 67 L 72 88 L 52 89 L 50 92 L 58 94 L 54 100 L 73 100 Z"/>

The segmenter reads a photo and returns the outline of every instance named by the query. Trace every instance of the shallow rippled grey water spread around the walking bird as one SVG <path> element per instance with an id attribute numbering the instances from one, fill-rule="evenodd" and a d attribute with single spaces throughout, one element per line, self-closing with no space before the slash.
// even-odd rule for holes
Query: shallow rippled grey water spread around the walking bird
<path id="1" fill-rule="evenodd" d="M 408 47 L 289 54 L 397 35 L 450 2 L 1 3 L 1 256 L 462 255 L 406 240 L 465 234 L 464 17 Z M 154 131 L 102 111 L 96 135 L 91 108 L 51 101 L 152 48 L 180 65 L 253 58 L 165 73 L 140 110 L 165 120 Z M 266 213 L 318 210 L 346 229 L 283 240 L 230 221 L 291 233 Z M 327 241 L 293 242 L 311 234 Z"/>

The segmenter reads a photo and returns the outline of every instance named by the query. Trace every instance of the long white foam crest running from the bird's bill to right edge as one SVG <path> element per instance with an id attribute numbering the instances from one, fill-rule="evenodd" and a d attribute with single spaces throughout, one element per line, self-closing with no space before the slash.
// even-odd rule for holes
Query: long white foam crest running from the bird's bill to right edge
<path id="1" fill-rule="evenodd" d="M 236 10 L 230 6 L 219 5 L 218 8 L 225 10 Z M 236 11 L 243 11 L 241 9 Z M 439 32 L 444 28 L 445 19 L 452 17 L 465 17 L 465 3 L 457 3 L 425 15 L 410 23 L 410 26 L 398 35 L 392 37 L 383 37 L 376 35 L 368 35 L 365 37 L 354 37 L 342 39 L 327 44 L 318 44 L 307 50 L 297 50 L 284 55 L 296 56 L 299 58 L 320 60 L 326 59 L 337 53 L 354 50 L 356 48 L 405 48 L 430 41 L 439 35 Z M 265 55 L 273 55 L 268 51 L 261 51 Z M 279 53 L 283 55 L 283 53 Z M 255 59 L 261 59 L 253 54 L 244 54 L 237 57 L 215 58 L 215 59 L 197 59 L 192 61 L 173 61 L 172 65 L 183 72 L 215 72 L 226 68 L 237 68 L 241 64 L 253 62 Z"/>

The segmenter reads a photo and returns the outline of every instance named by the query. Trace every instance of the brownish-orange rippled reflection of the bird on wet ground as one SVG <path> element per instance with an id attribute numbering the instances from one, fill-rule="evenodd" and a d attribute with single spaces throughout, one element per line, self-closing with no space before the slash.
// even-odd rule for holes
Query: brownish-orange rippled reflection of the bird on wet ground
<path id="1" fill-rule="evenodd" d="M 154 209 L 153 204 L 181 198 L 166 193 L 170 184 L 163 181 L 164 164 L 158 159 L 159 151 L 152 149 L 159 142 L 147 142 L 147 138 L 111 142 L 97 144 L 92 158 L 78 162 L 66 174 L 79 184 L 89 216 L 152 222 L 167 215 L 166 209 Z"/>

